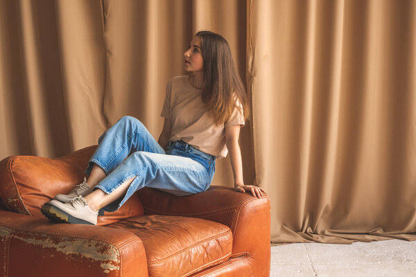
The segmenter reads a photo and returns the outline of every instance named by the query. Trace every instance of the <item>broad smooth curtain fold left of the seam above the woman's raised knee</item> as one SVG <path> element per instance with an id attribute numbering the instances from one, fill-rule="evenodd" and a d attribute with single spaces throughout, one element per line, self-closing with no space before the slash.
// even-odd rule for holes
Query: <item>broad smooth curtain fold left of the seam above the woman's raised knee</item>
<path id="1" fill-rule="evenodd" d="M 69 146 L 77 150 L 98 143 L 107 127 L 103 113 L 106 61 L 101 1 L 55 1 L 55 17 L 62 112 L 67 116 Z"/>

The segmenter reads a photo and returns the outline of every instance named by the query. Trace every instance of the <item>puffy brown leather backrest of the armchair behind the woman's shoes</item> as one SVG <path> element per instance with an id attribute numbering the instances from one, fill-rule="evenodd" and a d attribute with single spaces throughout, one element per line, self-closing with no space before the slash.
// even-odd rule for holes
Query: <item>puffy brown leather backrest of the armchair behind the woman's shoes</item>
<path id="1" fill-rule="evenodd" d="M 24 215 L 42 216 L 40 209 L 58 193 L 69 193 L 83 181 L 84 170 L 97 145 L 64 157 L 48 159 L 10 156 L 0 161 L 0 208 Z M 133 195 L 114 213 L 98 217 L 98 225 L 143 215 L 138 195 Z"/>

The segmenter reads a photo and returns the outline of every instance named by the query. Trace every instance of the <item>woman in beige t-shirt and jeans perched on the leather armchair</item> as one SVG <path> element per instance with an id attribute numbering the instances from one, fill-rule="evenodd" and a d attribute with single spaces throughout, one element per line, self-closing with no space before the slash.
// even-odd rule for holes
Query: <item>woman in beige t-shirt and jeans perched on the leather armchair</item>
<path id="1" fill-rule="evenodd" d="M 216 159 L 228 151 L 235 190 L 263 195 L 261 188 L 243 183 L 238 141 L 250 111 L 227 41 L 209 31 L 198 32 L 184 57 L 191 74 L 176 76 L 166 85 L 159 140 L 139 120 L 123 116 L 98 139 L 85 170 L 88 179 L 46 203 L 46 217 L 96 224 L 101 208 L 116 211 L 144 186 L 173 195 L 202 193 L 214 177 Z"/>

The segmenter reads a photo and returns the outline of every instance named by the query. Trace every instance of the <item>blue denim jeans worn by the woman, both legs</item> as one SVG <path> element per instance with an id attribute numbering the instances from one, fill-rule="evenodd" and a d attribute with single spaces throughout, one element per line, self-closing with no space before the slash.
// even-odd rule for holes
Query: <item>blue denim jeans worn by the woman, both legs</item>
<path id="1" fill-rule="evenodd" d="M 104 208 L 116 211 L 144 186 L 179 196 L 202 193 L 214 177 L 215 161 L 184 141 L 169 141 L 165 152 L 137 118 L 123 116 L 98 139 L 85 174 L 89 176 L 94 163 L 102 168 L 107 176 L 94 190 L 107 194 L 135 177 L 125 196 Z"/>

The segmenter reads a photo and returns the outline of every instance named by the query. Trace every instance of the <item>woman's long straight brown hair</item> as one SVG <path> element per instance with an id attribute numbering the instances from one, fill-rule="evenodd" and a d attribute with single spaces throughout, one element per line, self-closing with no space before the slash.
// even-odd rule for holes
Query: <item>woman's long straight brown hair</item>
<path id="1" fill-rule="evenodd" d="M 206 30 L 196 33 L 196 37 L 201 39 L 204 60 L 201 98 L 207 106 L 208 114 L 217 125 L 221 125 L 229 119 L 236 107 L 246 120 L 250 116 L 248 96 L 236 71 L 228 42 L 221 35 Z M 236 106 L 233 97 L 241 102 L 242 110 Z"/>

